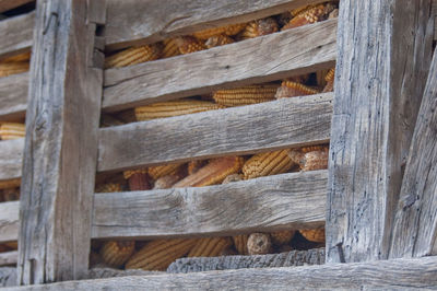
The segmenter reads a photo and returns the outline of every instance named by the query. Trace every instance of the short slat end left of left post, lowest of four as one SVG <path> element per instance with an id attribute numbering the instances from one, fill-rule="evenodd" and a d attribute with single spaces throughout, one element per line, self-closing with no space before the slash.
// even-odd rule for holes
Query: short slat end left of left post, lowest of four
<path id="1" fill-rule="evenodd" d="M 20 201 L 0 203 L 0 242 L 19 238 Z"/>

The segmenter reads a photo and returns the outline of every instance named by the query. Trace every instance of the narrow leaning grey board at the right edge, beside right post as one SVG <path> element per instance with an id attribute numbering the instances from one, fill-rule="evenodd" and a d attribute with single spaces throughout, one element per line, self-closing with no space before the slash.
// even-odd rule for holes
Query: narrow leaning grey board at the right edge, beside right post
<path id="1" fill-rule="evenodd" d="M 402 181 L 390 257 L 437 255 L 437 50 Z"/>

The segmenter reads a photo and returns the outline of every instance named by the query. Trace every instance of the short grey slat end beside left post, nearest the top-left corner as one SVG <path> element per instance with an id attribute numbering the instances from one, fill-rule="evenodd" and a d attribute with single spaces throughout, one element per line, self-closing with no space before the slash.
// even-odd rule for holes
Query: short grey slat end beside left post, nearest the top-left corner
<path id="1" fill-rule="evenodd" d="M 0 58 L 29 50 L 35 12 L 0 21 Z"/>

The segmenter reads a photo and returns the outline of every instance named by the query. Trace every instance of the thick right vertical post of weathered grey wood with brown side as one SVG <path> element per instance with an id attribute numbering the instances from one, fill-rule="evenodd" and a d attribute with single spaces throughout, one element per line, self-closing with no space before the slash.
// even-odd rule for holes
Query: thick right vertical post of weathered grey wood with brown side
<path id="1" fill-rule="evenodd" d="M 383 259 L 429 69 L 430 0 L 343 0 L 327 206 L 327 261 Z"/>

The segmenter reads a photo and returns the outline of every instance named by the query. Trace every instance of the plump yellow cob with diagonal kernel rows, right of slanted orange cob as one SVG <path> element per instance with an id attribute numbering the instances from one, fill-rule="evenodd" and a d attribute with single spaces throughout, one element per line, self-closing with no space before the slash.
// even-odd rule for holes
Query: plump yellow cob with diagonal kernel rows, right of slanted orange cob
<path id="1" fill-rule="evenodd" d="M 243 166 L 245 179 L 285 173 L 293 166 L 290 150 L 259 153 L 250 158 Z"/>

